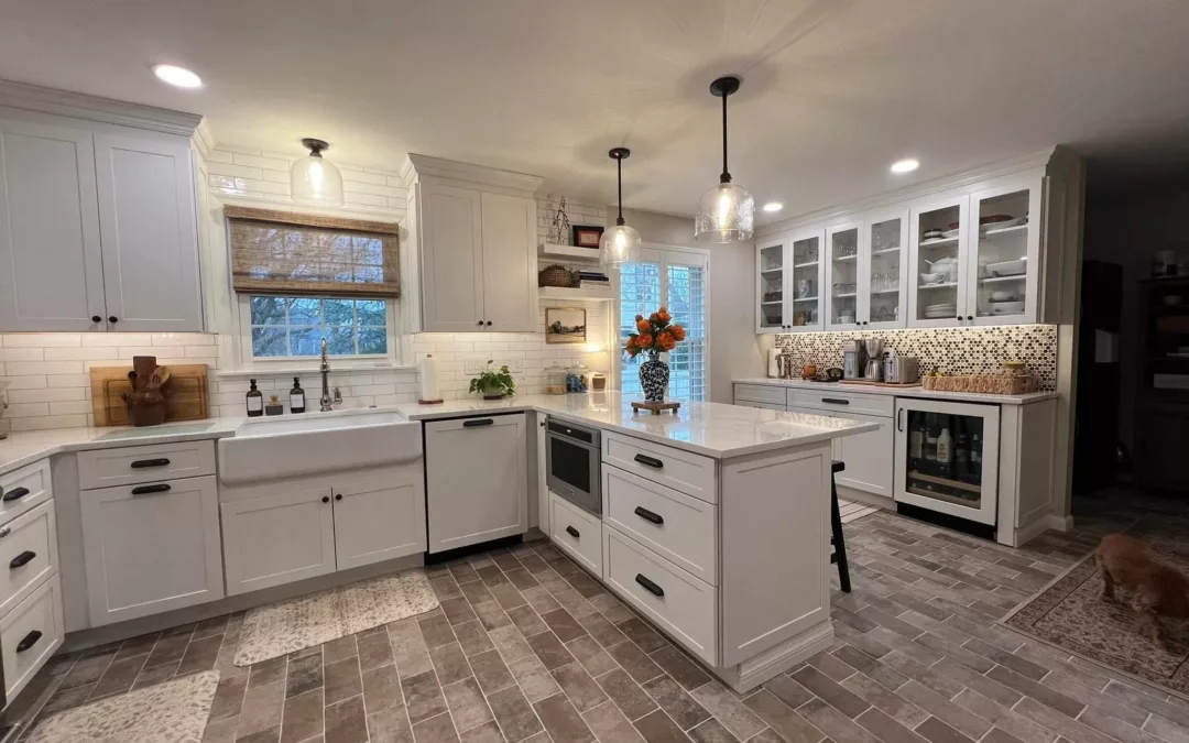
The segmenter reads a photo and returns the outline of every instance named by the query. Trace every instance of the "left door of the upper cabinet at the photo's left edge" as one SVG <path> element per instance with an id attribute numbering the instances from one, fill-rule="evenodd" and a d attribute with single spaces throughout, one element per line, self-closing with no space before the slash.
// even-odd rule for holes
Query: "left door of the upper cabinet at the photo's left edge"
<path id="1" fill-rule="evenodd" d="M 0 121 L 0 330 L 106 327 L 89 132 Z"/>

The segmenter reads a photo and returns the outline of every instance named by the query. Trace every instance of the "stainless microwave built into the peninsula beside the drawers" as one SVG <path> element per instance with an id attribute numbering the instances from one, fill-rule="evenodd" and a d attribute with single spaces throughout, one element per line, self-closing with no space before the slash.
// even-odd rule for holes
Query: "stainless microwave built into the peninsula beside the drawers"
<path id="1" fill-rule="evenodd" d="M 599 466 L 602 447 L 597 428 L 549 416 L 545 418 L 546 481 L 549 490 L 596 516 L 603 515 Z"/>

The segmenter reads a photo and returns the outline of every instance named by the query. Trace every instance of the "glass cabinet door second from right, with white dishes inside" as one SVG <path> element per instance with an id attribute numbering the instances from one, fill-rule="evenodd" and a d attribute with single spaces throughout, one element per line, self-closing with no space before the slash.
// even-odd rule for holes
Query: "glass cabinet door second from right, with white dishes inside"
<path id="1" fill-rule="evenodd" d="M 962 228 L 968 207 L 967 196 L 956 196 L 912 210 L 910 327 L 955 326 L 965 320 L 967 238 Z"/>

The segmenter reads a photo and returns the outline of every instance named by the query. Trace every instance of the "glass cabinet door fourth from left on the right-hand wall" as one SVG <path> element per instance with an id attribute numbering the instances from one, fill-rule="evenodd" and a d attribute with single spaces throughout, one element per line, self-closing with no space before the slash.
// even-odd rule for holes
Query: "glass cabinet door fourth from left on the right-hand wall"
<path id="1" fill-rule="evenodd" d="M 864 326 L 902 328 L 907 311 L 907 210 L 873 213 L 860 259 L 858 315 Z"/>

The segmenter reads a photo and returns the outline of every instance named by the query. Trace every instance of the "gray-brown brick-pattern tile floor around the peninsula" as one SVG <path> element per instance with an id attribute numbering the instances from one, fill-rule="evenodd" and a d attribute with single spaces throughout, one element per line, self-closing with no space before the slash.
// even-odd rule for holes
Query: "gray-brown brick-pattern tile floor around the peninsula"
<path id="1" fill-rule="evenodd" d="M 429 568 L 441 607 L 251 669 L 222 617 L 63 659 L 50 709 L 224 673 L 208 743 L 1179 743 L 1189 704 L 995 624 L 1133 518 L 1009 549 L 880 511 L 845 527 L 837 642 L 738 695 L 545 543 Z"/>

